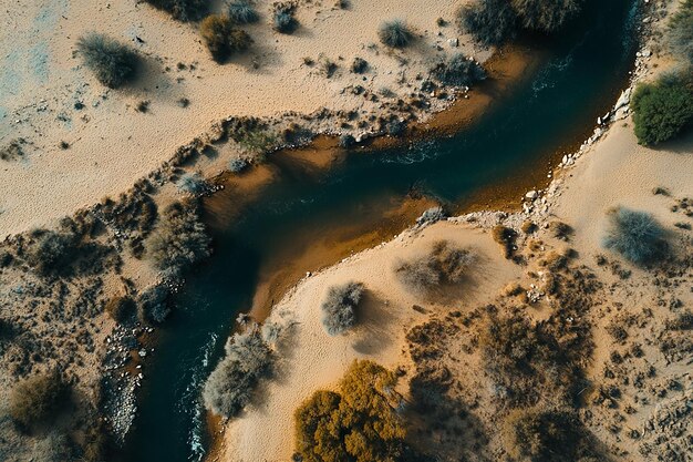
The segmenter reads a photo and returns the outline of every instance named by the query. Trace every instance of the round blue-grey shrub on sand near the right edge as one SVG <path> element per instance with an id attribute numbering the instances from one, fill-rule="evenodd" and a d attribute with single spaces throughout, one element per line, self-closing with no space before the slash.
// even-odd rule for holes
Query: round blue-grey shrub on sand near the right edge
<path id="1" fill-rule="evenodd" d="M 619 207 L 609 214 L 603 246 L 632 263 L 650 263 L 664 254 L 664 229 L 648 213 Z"/>

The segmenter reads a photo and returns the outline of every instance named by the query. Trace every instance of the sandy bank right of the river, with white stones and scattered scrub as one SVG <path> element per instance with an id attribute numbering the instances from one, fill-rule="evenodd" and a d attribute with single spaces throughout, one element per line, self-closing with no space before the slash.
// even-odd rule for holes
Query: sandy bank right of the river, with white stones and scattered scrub
<path id="1" fill-rule="evenodd" d="M 669 8 L 675 8 L 675 3 Z M 655 22 L 652 21 L 653 24 Z M 654 27 L 661 27 L 661 21 Z M 639 52 L 632 84 L 651 79 L 671 64 L 666 57 L 653 55 L 652 47 L 653 42 L 650 41 Z M 625 99 L 623 103 L 623 97 L 619 100 L 613 111 L 600 117 L 599 126 L 580 150 L 565 155 L 557 173 L 558 178 L 552 179 L 546 188 L 527 192 L 523 197 L 523 212 L 473 213 L 423 229 L 414 228 L 387 244 L 310 275 L 291 289 L 269 318 L 272 320 L 277 316 L 277 319 L 299 320 L 287 351 L 280 351 L 282 365 L 279 380 L 270 381 L 262 390 L 262 398 L 227 425 L 224 443 L 210 459 L 289 460 L 293 410 L 317 389 L 334 388 L 354 358 L 374 359 L 393 370 L 404 370 L 401 387 L 406 396 L 406 383 L 416 372 L 410 357 L 412 345 L 405 339 L 410 328 L 432 319 L 449 319 L 454 310 L 462 311 L 462 317 L 469 319 L 469 316 L 476 316 L 477 306 L 515 297 L 513 291 L 500 290 L 506 287 L 505 284 L 523 288 L 518 295 L 532 300 L 519 302 L 524 312 L 535 321 L 546 319 L 555 309 L 555 295 L 547 289 L 549 273 L 560 273 L 558 269 L 547 271 L 546 261 L 556 258 L 556 255 L 568 256 L 570 267 L 593 275 L 599 284 L 608 287 L 598 291 L 583 314 L 590 322 L 590 329 L 594 331 L 594 351 L 591 358 L 586 359 L 589 365 L 587 373 L 592 384 L 585 397 L 587 412 L 581 414 L 581 420 L 599 443 L 608 448 L 609 456 L 651 460 L 665 450 L 662 441 L 668 446 L 671 444 L 670 448 L 674 448 L 672 450 L 676 453 L 685 452 L 685 443 L 681 445 L 675 430 L 671 429 L 670 432 L 665 424 L 660 423 L 666 422 L 660 420 L 660 410 L 674 409 L 676 403 L 690 396 L 693 386 L 690 374 L 684 372 L 685 357 L 672 361 L 671 357 L 662 356 L 662 349 L 665 348 L 662 339 L 673 335 L 666 326 L 679 315 L 678 307 L 693 302 L 691 292 L 686 290 L 691 284 L 691 268 L 686 266 L 690 261 L 685 259 L 685 255 L 691 253 L 690 232 L 674 226 L 685 219 L 678 204 L 685 203 L 686 197 L 693 195 L 689 174 L 693 171 L 693 140 L 689 135 L 658 150 L 639 146 L 632 134 L 628 101 Z M 658 188 L 666 193 L 653 194 Z M 683 267 L 643 269 L 604 250 L 601 239 L 607 213 L 616 206 L 653 214 L 670 233 L 674 253 L 683 256 L 680 263 Z M 568 224 L 571 230 L 557 235 L 557 227 L 551 225 L 555 222 Z M 534 223 L 538 230 L 526 230 L 529 229 L 525 227 L 526 223 Z M 489 233 L 499 224 L 518 233 L 516 251 L 526 261 L 521 266 L 509 266 L 503 275 L 487 277 L 489 271 L 493 274 L 507 265 Z M 393 279 L 392 256 L 423 254 L 431 246 L 431 239 L 441 237 L 480 249 L 482 263 L 474 269 L 484 275 L 485 284 L 493 281 L 497 287 L 483 287 L 477 292 L 479 283 L 466 281 L 462 289 L 463 296 L 455 299 L 454 308 L 449 304 L 412 298 Z M 663 287 L 662 275 L 672 270 L 676 275 L 675 284 Z M 629 276 L 624 276 L 624 271 Z M 368 300 L 364 318 L 360 319 L 354 332 L 330 338 L 320 322 L 320 304 L 330 286 L 349 280 L 364 281 L 366 291 L 374 294 L 375 301 Z M 653 306 L 665 307 L 668 300 L 676 300 L 669 305 L 669 310 L 656 309 L 652 312 L 648 309 Z M 423 309 L 412 309 L 415 305 Z M 640 315 L 641 309 L 647 319 Z M 627 319 L 637 320 L 631 322 Z M 625 340 L 610 333 L 614 326 L 625 326 Z M 498 458 L 504 453 L 503 441 L 494 438 L 490 430 L 497 428 L 498 419 L 504 413 L 496 410 L 494 397 L 485 391 L 490 387 L 484 379 L 479 351 L 473 346 L 477 335 L 465 332 L 468 337 L 458 339 L 464 342 L 463 352 L 457 351 L 459 347 L 444 351 L 443 355 L 449 355 L 453 361 L 445 360 L 442 363 L 453 378 L 449 382 L 455 387 L 451 387 L 451 390 L 456 391 L 451 391 L 451 394 L 473 410 L 474 418 L 479 420 L 477 430 L 490 438 L 488 454 Z M 658 339 L 653 340 L 652 335 L 659 336 Z M 465 351 L 468 345 L 472 345 L 468 347 L 472 352 Z M 625 366 L 613 366 L 614 351 L 619 357 L 625 355 Z M 628 351 L 639 352 L 630 357 Z M 640 377 L 640 371 L 647 367 L 656 370 L 655 378 L 648 376 L 629 382 L 628 377 L 632 372 Z M 613 397 L 618 402 L 616 405 L 600 405 L 603 402 L 599 400 L 600 390 L 613 383 L 619 387 L 618 398 Z M 676 386 L 670 387 L 671 383 Z M 625 414 L 620 412 L 622 409 L 625 409 Z M 685 428 L 690 417 L 681 419 L 676 425 Z M 262 429 L 282 431 L 263 432 Z M 635 441 L 630 442 L 623 438 L 625 434 Z M 445 438 L 442 430 L 434 430 L 433 435 L 428 432 L 417 438 L 422 439 L 422 444 L 427 442 L 428 448 L 441 448 L 442 452 L 449 450 L 449 454 L 456 454 L 457 458 L 459 452 L 466 450 L 459 448 L 459 441 L 449 438 L 449 434 Z"/>

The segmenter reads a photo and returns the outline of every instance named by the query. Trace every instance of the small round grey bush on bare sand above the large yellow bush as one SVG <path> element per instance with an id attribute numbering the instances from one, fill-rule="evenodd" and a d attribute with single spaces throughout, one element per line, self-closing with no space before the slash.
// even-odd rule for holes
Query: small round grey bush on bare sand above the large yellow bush
<path id="1" fill-rule="evenodd" d="M 322 325 L 331 336 L 345 332 L 356 322 L 355 309 L 363 295 L 363 284 L 332 286 L 322 302 Z"/>

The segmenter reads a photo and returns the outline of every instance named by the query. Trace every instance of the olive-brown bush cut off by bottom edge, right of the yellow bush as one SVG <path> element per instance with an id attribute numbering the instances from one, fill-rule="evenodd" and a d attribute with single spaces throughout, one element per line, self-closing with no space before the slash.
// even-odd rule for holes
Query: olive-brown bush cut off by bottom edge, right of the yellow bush
<path id="1" fill-rule="evenodd" d="M 506 420 L 505 434 L 508 452 L 519 460 L 579 461 L 597 455 L 585 429 L 570 411 L 516 410 Z"/>

